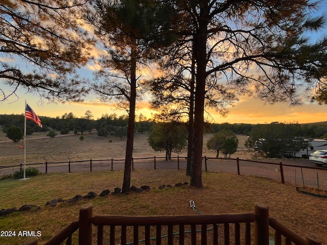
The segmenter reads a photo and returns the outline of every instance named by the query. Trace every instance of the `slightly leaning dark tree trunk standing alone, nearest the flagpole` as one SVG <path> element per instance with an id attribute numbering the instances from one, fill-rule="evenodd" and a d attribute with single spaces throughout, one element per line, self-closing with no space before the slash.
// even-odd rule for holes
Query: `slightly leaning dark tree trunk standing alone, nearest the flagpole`
<path id="1" fill-rule="evenodd" d="M 124 182 L 122 192 L 128 192 L 131 184 L 133 143 L 135 131 L 135 107 L 136 107 L 136 50 L 131 47 L 131 81 L 130 81 L 129 117 L 127 127 L 127 142 L 124 167 Z"/>

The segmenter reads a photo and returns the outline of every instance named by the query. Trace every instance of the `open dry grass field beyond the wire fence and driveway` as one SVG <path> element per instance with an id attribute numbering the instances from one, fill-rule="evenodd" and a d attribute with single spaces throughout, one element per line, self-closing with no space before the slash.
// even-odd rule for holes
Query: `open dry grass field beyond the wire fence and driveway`
<path id="1" fill-rule="evenodd" d="M 26 163 L 42 162 L 61 162 L 78 161 L 89 159 L 124 159 L 126 149 L 126 139 L 120 139 L 114 136 L 99 137 L 97 134 L 84 134 L 84 140 L 79 140 L 80 135 L 71 135 L 68 137 L 58 137 L 51 139 L 45 137 L 46 133 L 35 133 L 27 136 L 26 141 Z M 36 137 L 45 137 L 35 139 Z M 204 135 L 203 154 L 208 157 L 215 157 L 216 153 L 208 151 L 206 141 L 212 137 L 212 134 Z M 238 135 L 239 150 L 232 157 L 242 156 L 250 157 L 246 151 L 244 142 L 245 135 Z M 109 142 L 112 140 L 112 142 Z M 17 143 L 8 141 L 4 133 L 0 133 L 0 166 L 19 165 L 24 163 L 24 149 L 18 146 L 24 145 L 21 140 Z M 186 150 L 180 155 L 186 155 Z M 135 134 L 134 138 L 134 158 L 165 156 L 165 153 L 155 152 L 148 143 L 148 134 Z"/>

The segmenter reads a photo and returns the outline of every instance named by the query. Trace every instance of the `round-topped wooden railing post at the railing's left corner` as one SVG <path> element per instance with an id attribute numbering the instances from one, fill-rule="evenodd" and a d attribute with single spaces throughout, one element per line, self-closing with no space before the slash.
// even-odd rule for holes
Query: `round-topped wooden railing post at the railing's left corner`
<path id="1" fill-rule="evenodd" d="M 78 244 L 79 245 L 92 245 L 92 204 L 84 204 L 80 208 L 79 216 L 79 234 Z"/>

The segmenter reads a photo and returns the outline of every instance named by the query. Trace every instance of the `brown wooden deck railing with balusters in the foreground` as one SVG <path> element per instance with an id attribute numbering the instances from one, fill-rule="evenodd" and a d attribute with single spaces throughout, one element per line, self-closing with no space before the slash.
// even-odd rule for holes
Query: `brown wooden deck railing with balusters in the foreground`
<path id="1" fill-rule="evenodd" d="M 218 229 L 218 225 L 223 225 L 222 231 Z M 241 226 L 244 229 L 241 229 Z M 256 203 L 254 213 L 165 216 L 93 216 L 92 204 L 84 204 L 80 208 L 79 221 L 67 226 L 45 245 L 60 245 L 62 242 L 66 242 L 66 245 L 72 245 L 72 236 L 78 229 L 78 244 L 92 245 L 93 227 L 96 228 L 96 243 L 98 245 L 114 245 L 118 242 L 122 245 L 131 243 L 137 245 L 141 241 L 150 245 L 153 239 L 156 245 L 181 245 L 185 243 L 204 245 L 208 242 L 218 244 L 219 239 L 223 239 L 222 244 L 225 245 L 268 245 L 269 229 L 274 230 L 275 245 L 281 245 L 283 238 L 287 245 L 292 243 L 297 245 L 321 244 L 321 241 L 312 235 L 306 235 L 305 239 L 298 236 L 274 218 L 269 217 L 267 206 Z M 104 227 L 108 227 L 108 234 L 104 232 Z M 185 227 L 190 227 L 189 235 L 185 235 Z M 233 228 L 232 240 L 230 240 L 231 227 Z M 251 231 L 252 228 L 254 229 Z M 174 232 L 176 229 L 178 232 Z M 209 229 L 210 231 L 208 231 Z M 163 231 L 167 232 L 167 235 L 162 235 Z M 155 234 L 153 238 L 151 238 L 152 233 Z M 108 239 L 105 240 L 104 237 L 108 237 Z M 129 242 L 129 239 L 132 242 Z M 219 242 L 221 243 L 221 241 Z M 31 238 L 23 244 L 37 245 L 38 240 Z"/>

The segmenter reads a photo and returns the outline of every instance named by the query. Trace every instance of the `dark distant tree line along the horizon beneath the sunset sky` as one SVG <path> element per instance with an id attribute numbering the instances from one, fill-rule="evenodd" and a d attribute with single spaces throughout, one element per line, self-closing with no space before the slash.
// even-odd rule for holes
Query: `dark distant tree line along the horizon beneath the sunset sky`
<path id="1" fill-rule="evenodd" d="M 62 116 L 46 117 L 40 116 L 43 127 L 38 127 L 33 121 L 27 120 L 27 135 L 34 132 L 48 132 L 51 129 L 60 131 L 61 134 L 68 134 L 74 132 L 75 134 L 84 134 L 96 129 L 98 132 L 102 131 L 99 136 L 115 135 L 120 137 L 119 131 L 124 131 L 128 125 L 128 115 L 117 114 L 103 114 L 98 119 L 93 119 L 90 111 L 86 111 L 84 116 L 78 118 L 73 112 L 65 113 Z M 135 132 L 144 133 L 151 129 L 155 124 L 152 119 L 148 119 L 143 114 L 136 117 Z M 312 122 L 308 124 L 281 123 L 271 122 L 270 124 L 229 124 L 224 122 L 222 124 L 206 124 L 206 133 L 217 133 L 220 131 L 231 131 L 235 134 L 244 134 L 249 136 L 253 129 L 264 128 L 270 130 L 270 127 L 277 128 L 281 125 L 288 125 L 292 127 L 292 132 L 296 137 L 306 138 L 327 138 L 327 121 Z M 7 133 L 11 126 L 19 127 L 24 131 L 24 114 L 0 114 L 0 126 L 4 133 Z M 118 130 L 118 132 L 116 132 Z"/>

